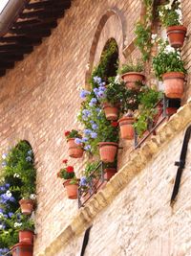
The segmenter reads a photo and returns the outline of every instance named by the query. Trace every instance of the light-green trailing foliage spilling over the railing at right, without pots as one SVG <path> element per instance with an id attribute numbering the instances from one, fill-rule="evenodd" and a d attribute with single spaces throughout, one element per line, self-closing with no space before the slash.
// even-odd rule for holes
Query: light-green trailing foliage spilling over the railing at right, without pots
<path id="1" fill-rule="evenodd" d="M 149 122 L 152 122 L 152 119 L 156 114 L 155 105 L 159 102 L 161 97 L 161 92 L 149 88 L 148 86 L 144 86 L 138 95 L 138 118 L 134 123 L 134 128 L 136 128 L 139 137 L 141 137 L 142 133 L 148 128 Z"/>

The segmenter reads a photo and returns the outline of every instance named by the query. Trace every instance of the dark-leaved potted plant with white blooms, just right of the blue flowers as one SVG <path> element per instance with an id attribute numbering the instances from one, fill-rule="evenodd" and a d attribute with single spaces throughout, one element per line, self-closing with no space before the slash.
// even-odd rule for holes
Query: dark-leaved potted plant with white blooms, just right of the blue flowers
<path id="1" fill-rule="evenodd" d="M 125 83 L 116 78 L 109 78 L 106 85 L 105 98 L 101 98 L 103 110 L 107 120 L 115 121 L 118 117 L 120 105 L 125 97 Z"/>

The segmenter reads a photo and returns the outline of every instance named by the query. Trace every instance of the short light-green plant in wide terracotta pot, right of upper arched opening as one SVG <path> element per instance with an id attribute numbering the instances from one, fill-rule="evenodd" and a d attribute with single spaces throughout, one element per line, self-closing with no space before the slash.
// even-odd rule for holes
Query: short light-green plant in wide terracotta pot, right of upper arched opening
<path id="1" fill-rule="evenodd" d="M 121 75 L 126 87 L 131 90 L 139 90 L 142 82 L 145 80 L 143 72 L 143 63 L 138 59 L 137 63 L 126 63 L 118 69 L 118 74 Z"/>

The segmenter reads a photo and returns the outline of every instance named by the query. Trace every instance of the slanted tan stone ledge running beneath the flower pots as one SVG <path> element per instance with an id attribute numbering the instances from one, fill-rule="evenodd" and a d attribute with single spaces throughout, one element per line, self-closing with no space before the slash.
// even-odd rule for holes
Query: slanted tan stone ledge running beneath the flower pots
<path id="1" fill-rule="evenodd" d="M 45 251 L 37 256 L 53 256 L 67 245 L 74 237 L 79 236 L 89 227 L 96 215 L 108 206 L 117 194 L 152 160 L 154 154 L 172 140 L 180 130 L 191 123 L 191 98 L 186 105 L 180 107 L 170 120 L 159 128 L 158 135 L 148 139 L 140 149 L 132 151 L 127 164 L 117 172 L 94 198 L 87 202 L 84 208 L 79 209 L 74 220 L 47 246 Z"/>

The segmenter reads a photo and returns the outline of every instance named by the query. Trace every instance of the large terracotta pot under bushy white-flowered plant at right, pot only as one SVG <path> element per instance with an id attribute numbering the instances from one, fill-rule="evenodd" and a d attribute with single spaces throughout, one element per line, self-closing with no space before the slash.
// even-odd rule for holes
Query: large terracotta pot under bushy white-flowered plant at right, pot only
<path id="1" fill-rule="evenodd" d="M 166 97 L 180 99 L 183 96 L 183 83 L 185 75 L 180 72 L 168 72 L 162 75 Z"/>

